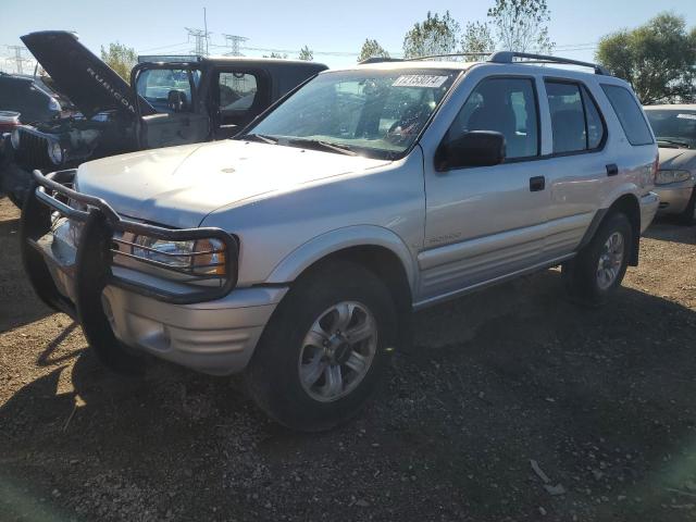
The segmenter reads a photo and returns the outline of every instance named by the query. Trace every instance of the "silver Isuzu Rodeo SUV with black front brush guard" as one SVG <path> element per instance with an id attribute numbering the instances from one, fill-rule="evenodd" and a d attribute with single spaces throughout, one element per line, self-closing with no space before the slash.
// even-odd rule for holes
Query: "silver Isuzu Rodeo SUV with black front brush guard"
<path id="1" fill-rule="evenodd" d="M 331 427 L 412 310 L 556 265 L 599 304 L 637 263 L 650 127 L 624 82 L 551 61 L 324 72 L 235 139 L 35 173 L 29 278 L 113 369 L 244 371 L 272 418 Z"/>

